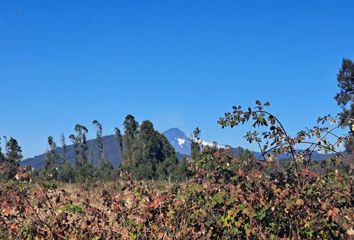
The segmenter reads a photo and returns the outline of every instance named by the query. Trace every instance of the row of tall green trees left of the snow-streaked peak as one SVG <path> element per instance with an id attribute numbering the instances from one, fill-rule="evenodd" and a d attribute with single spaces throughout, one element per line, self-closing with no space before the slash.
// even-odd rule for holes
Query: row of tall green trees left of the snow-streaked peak
<path id="1" fill-rule="evenodd" d="M 49 149 L 46 153 L 44 167 L 38 172 L 41 180 L 60 180 L 63 182 L 92 182 L 95 180 L 112 180 L 117 177 L 115 169 L 109 159 L 105 158 L 103 141 L 103 126 L 94 120 L 96 129 L 96 147 L 98 164 L 93 163 L 93 149 L 88 148 L 88 128 L 76 124 L 74 133 L 69 136 L 73 146 L 74 164 L 69 163 L 67 139 L 62 134 L 60 144 L 62 151 L 58 151 L 57 144 L 52 136 L 48 137 Z M 114 138 L 117 147 L 121 149 L 122 159 L 119 169 L 130 173 L 136 179 L 160 179 L 178 181 L 186 177 L 186 159 L 178 160 L 175 149 L 167 138 L 154 129 L 149 120 L 141 124 L 131 114 L 123 122 L 124 134 L 115 128 Z M 5 138 L 6 139 L 6 138 Z M 0 174 L 11 179 L 16 174 L 22 161 L 22 149 L 14 138 L 6 139 L 6 154 L 0 148 Z"/>

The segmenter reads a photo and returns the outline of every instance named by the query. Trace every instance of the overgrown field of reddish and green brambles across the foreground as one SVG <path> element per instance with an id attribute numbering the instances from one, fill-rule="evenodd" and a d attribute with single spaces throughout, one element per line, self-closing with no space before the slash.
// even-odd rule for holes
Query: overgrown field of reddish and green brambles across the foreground
<path id="1" fill-rule="evenodd" d="M 350 164 L 301 167 L 299 183 L 291 166 L 243 163 L 230 150 L 206 148 L 182 183 L 125 173 L 86 186 L 3 182 L 0 239 L 353 237 Z"/>

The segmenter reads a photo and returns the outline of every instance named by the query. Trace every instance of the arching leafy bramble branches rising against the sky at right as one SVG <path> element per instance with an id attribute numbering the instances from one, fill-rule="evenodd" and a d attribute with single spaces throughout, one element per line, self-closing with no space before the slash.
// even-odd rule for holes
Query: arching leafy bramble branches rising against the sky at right
<path id="1" fill-rule="evenodd" d="M 336 149 L 346 142 L 347 137 L 338 136 L 334 133 L 338 126 L 330 128 L 329 124 L 337 124 L 337 120 L 327 115 L 317 120 L 317 125 L 290 136 L 280 120 L 266 107 L 270 103 L 256 101 L 256 106 L 244 110 L 241 106 L 234 106 L 232 112 L 225 113 L 218 123 L 222 128 L 236 127 L 251 122 L 254 129 L 260 129 L 246 133 L 245 138 L 249 143 L 257 143 L 265 161 L 276 160 L 280 155 L 290 157 L 295 168 L 296 176 L 299 175 L 299 164 L 308 164 L 314 151 L 336 153 Z M 334 138 L 335 142 L 331 143 Z M 298 149 L 304 149 L 298 151 Z"/>

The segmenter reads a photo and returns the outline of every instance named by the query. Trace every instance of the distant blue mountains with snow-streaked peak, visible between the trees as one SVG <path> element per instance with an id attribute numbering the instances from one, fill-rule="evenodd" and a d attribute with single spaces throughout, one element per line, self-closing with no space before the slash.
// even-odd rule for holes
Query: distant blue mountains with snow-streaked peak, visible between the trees
<path id="1" fill-rule="evenodd" d="M 171 145 L 175 148 L 177 157 L 179 159 L 182 159 L 184 157 L 188 157 L 191 152 L 191 143 L 192 143 L 192 138 L 189 137 L 185 132 L 178 128 L 170 128 L 167 131 L 163 133 L 167 140 L 171 143 Z M 109 160 L 114 167 L 118 167 L 120 163 L 122 162 L 122 149 L 118 145 L 114 135 L 108 135 L 103 137 L 103 144 L 104 144 L 104 153 L 105 153 L 105 158 Z M 213 143 L 208 143 L 206 141 L 202 141 L 202 144 L 204 146 L 211 146 Z M 96 144 L 96 139 L 91 139 L 87 141 L 87 154 L 88 154 L 88 159 L 89 162 L 92 162 L 94 165 L 98 164 L 98 148 Z M 218 145 L 218 147 L 223 147 L 221 145 Z M 67 158 L 68 161 L 73 164 L 74 163 L 74 147 L 73 145 L 68 145 L 68 153 L 67 153 Z M 234 154 L 238 154 L 244 149 L 241 147 L 238 148 L 233 148 Z M 63 154 L 63 149 L 61 147 L 57 148 L 57 153 L 62 155 Z M 261 153 L 259 152 L 253 152 L 254 156 L 256 158 L 261 159 Z M 333 156 L 333 154 L 321 154 L 318 152 L 313 152 L 313 160 L 315 161 L 322 161 L 325 160 L 329 157 Z M 288 156 L 286 154 L 283 154 L 280 156 L 281 159 L 287 158 Z M 32 166 L 35 169 L 40 169 L 44 166 L 44 161 L 46 158 L 46 153 L 32 157 L 32 158 L 27 158 L 22 161 L 21 165 L 23 166 Z"/>

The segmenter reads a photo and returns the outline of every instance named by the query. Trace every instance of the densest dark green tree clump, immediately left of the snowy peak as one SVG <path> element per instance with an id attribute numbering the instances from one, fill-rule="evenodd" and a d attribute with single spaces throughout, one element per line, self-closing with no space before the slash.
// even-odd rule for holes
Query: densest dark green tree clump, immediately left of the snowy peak
<path id="1" fill-rule="evenodd" d="M 136 179 L 171 181 L 178 159 L 166 137 L 148 120 L 139 126 L 132 115 L 126 117 L 124 125 L 122 168 Z"/>

